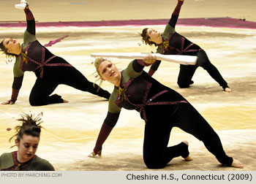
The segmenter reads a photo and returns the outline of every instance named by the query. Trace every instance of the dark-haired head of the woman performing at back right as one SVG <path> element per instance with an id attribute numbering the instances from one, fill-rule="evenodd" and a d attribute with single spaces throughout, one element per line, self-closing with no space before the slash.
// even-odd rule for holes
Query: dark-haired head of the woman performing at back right
<path id="1" fill-rule="evenodd" d="M 144 28 L 140 36 L 146 45 L 157 46 L 157 39 L 161 37 L 161 34 L 154 28 Z"/>

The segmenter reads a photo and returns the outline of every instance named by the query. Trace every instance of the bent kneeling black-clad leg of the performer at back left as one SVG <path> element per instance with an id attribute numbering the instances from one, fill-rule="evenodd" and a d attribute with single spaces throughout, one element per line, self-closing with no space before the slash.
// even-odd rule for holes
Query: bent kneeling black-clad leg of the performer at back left
<path id="1" fill-rule="evenodd" d="M 53 93 L 57 86 L 58 84 L 53 83 L 50 80 L 37 78 L 29 96 L 29 103 L 31 106 L 63 103 L 61 96 L 56 94 L 50 96 L 50 94 Z"/>

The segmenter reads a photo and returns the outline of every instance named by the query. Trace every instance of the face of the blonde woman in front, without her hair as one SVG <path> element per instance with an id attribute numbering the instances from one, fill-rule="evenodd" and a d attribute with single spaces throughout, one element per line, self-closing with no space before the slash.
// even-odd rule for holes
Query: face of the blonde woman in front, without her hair
<path id="1" fill-rule="evenodd" d="M 116 68 L 116 65 L 112 64 L 110 61 L 102 61 L 99 64 L 99 74 L 103 80 L 107 80 L 114 85 L 119 85 L 121 80 L 121 73 Z"/>

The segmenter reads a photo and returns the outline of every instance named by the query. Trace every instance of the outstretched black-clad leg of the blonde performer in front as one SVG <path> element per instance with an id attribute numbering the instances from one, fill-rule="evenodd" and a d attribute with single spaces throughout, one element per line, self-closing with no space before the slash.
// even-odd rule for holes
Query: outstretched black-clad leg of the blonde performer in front
<path id="1" fill-rule="evenodd" d="M 226 155 L 217 133 L 191 104 L 178 104 L 173 118 L 178 120 L 174 126 L 203 141 L 208 151 L 214 154 L 220 163 L 227 166 L 232 164 L 233 158 Z"/>

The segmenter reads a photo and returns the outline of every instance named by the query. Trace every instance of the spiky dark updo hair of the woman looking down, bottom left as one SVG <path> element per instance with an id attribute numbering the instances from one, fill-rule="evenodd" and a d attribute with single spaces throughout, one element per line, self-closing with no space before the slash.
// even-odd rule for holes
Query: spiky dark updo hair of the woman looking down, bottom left
<path id="1" fill-rule="evenodd" d="M 16 138 L 18 142 L 20 142 L 20 139 L 23 138 L 23 135 L 31 135 L 33 137 L 40 137 L 41 133 L 41 128 L 40 124 L 42 123 L 41 120 L 42 117 L 42 112 L 37 115 L 37 117 L 34 118 L 34 115 L 28 115 L 28 114 L 23 114 L 21 115 L 21 118 L 18 119 L 22 122 L 21 126 L 15 126 L 16 129 L 16 134 L 12 136 L 9 141 L 13 138 Z"/>

